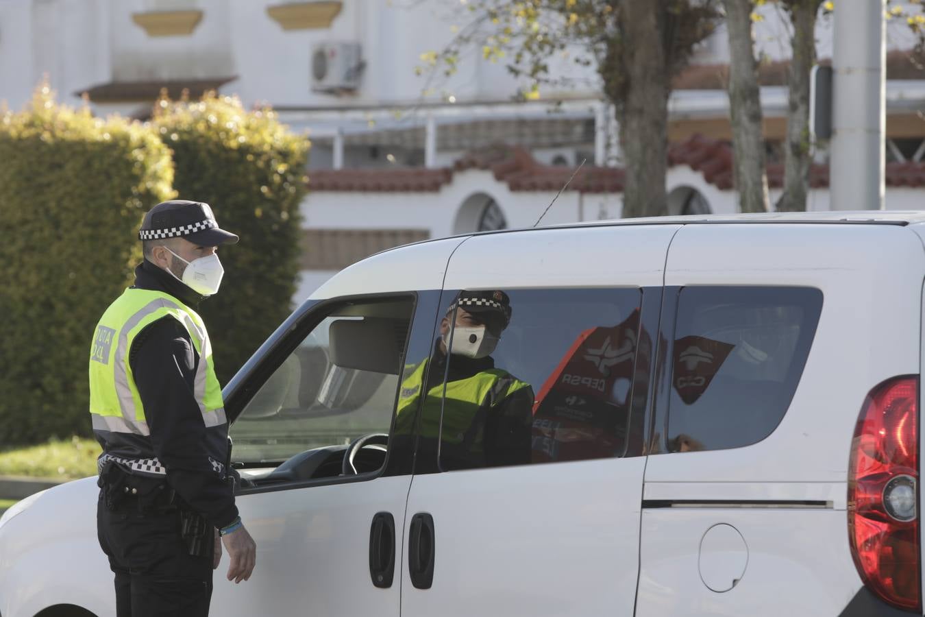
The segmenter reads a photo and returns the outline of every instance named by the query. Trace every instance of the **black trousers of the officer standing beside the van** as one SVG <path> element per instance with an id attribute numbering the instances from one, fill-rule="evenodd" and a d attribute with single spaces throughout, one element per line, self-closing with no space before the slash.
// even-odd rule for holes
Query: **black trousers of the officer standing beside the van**
<path id="1" fill-rule="evenodd" d="M 207 617 L 213 541 L 207 555 L 190 555 L 177 510 L 139 512 L 136 500 L 109 509 L 101 493 L 96 531 L 116 574 L 117 617 Z"/>

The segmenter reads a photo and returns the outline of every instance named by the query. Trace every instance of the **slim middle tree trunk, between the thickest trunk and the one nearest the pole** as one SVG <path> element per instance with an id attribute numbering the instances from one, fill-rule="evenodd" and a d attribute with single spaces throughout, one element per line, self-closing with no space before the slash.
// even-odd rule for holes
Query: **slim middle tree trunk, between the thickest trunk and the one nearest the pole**
<path id="1" fill-rule="evenodd" d="M 729 32 L 729 106 L 733 120 L 733 178 L 742 212 L 769 210 L 758 68 L 752 41 L 752 0 L 722 0 Z"/>

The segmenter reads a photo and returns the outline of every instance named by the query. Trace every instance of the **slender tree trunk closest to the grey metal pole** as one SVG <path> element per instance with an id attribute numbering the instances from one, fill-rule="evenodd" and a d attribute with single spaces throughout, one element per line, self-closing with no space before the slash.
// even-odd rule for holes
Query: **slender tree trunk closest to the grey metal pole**
<path id="1" fill-rule="evenodd" d="M 821 0 L 789 0 L 794 26 L 793 59 L 787 73 L 787 142 L 784 150 L 783 194 L 777 210 L 804 212 L 809 191 L 809 72 L 816 61 L 816 14 Z"/>

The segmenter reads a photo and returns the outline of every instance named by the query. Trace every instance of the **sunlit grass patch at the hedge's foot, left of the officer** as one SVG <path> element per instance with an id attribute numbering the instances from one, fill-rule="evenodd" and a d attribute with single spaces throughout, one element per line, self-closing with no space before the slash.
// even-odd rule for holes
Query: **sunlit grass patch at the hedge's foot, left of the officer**
<path id="1" fill-rule="evenodd" d="M 95 439 L 77 437 L 52 439 L 29 448 L 0 450 L 0 475 L 75 480 L 96 475 L 96 457 L 101 451 Z M 3 508 L 2 501 L 0 508 Z"/>

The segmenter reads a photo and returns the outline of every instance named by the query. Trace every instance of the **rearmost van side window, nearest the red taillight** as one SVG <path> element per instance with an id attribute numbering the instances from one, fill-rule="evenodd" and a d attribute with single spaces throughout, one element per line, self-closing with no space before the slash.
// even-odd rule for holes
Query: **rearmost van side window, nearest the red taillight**
<path id="1" fill-rule="evenodd" d="M 793 399 L 821 308 L 822 292 L 811 288 L 683 288 L 667 450 L 739 448 L 771 435 Z"/>

